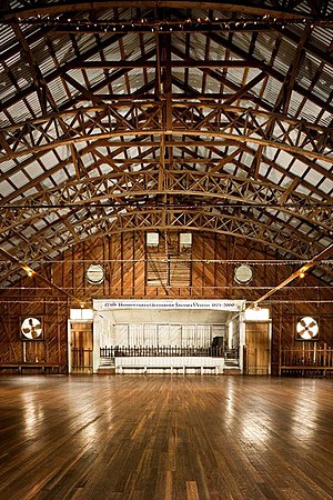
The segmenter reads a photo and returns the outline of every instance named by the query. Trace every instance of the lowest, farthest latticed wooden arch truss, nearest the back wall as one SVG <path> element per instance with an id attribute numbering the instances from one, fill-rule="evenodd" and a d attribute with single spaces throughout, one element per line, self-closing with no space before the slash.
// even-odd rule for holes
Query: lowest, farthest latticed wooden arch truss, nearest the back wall
<path id="1" fill-rule="evenodd" d="M 123 206 L 115 207 L 112 214 L 107 212 L 101 216 L 97 213 L 97 209 L 91 208 L 92 214 L 97 218 L 81 219 L 72 221 L 77 238 L 73 239 L 72 232 L 62 224 L 62 230 L 59 228 L 58 236 L 61 237 L 60 246 L 54 242 L 54 237 L 50 236 L 47 241 L 52 244 L 52 251 L 63 251 L 65 248 L 72 246 L 74 242 L 89 240 L 90 236 L 110 236 L 112 233 L 121 233 L 127 231 L 140 230 L 198 230 L 224 234 L 233 234 L 236 238 L 244 238 L 246 240 L 262 242 L 278 250 L 290 252 L 299 258 L 304 256 L 312 256 L 322 250 L 321 243 L 313 238 L 290 238 L 285 232 L 283 222 L 281 227 L 272 227 L 272 224 L 258 221 L 256 217 L 245 210 L 240 210 L 236 214 L 228 212 L 214 213 L 211 209 L 205 210 L 204 207 L 191 207 L 189 209 L 180 206 L 179 208 L 170 208 L 165 211 L 161 206 L 131 207 L 127 212 Z M 100 210 L 100 209 L 98 209 Z M 110 222 L 110 220 L 112 220 Z M 97 229 L 98 228 L 98 229 Z M 65 236 L 67 234 L 67 236 Z M 88 234 L 88 236 L 87 236 Z M 87 236 L 87 237 L 85 237 Z M 36 241 L 39 241 L 36 237 Z M 16 251 L 24 253 L 24 262 L 37 262 L 38 259 L 46 260 L 46 254 L 41 244 L 37 248 L 27 246 L 18 246 Z"/>

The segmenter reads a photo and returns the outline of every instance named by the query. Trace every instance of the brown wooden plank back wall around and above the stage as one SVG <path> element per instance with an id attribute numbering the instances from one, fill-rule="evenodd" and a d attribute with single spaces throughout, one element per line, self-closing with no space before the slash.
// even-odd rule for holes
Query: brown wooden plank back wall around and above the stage
<path id="1" fill-rule="evenodd" d="M 176 241 L 178 233 L 168 237 L 167 247 L 172 254 L 180 251 Z M 155 257 L 163 254 L 164 250 L 165 240 L 161 238 Z M 143 232 L 125 232 L 78 244 L 41 272 L 58 287 L 88 302 L 92 298 L 168 297 L 253 301 L 300 267 L 270 264 L 269 261 L 276 256 L 265 253 L 260 244 L 233 236 L 193 232 L 192 249 L 185 252 L 186 258 L 192 259 L 190 279 L 181 266 L 180 274 L 173 280 L 176 286 L 147 286 L 148 260 L 152 254 L 154 252 L 145 248 Z M 225 261 L 246 259 L 261 260 L 265 264 L 254 266 L 250 286 L 239 286 L 233 280 L 235 264 Z M 85 271 L 92 262 L 101 263 L 105 270 L 102 284 L 92 286 L 85 279 Z M 172 269 L 174 271 L 174 267 Z M 0 299 L 0 362 L 21 361 L 20 318 L 34 314 L 41 316 L 44 321 L 44 340 L 39 348 L 39 356 L 46 361 L 65 366 L 67 319 L 71 307 L 69 299 L 39 282 L 38 278 L 28 277 L 21 279 L 13 289 L 6 290 Z M 331 302 L 327 302 L 330 299 Z M 333 347 L 332 288 L 306 276 L 274 294 L 272 300 L 273 372 L 278 372 L 281 348 L 292 347 L 295 342 L 295 324 L 300 317 L 320 318 L 321 339 Z M 287 300 L 296 303 L 289 304 L 285 302 Z"/>

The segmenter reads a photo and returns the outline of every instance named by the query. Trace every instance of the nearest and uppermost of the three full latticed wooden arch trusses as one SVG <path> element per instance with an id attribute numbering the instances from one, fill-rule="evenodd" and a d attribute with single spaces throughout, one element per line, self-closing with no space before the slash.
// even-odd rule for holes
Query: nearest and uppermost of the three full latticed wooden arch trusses
<path id="1" fill-rule="evenodd" d="M 110 147 L 124 147 L 120 138 L 163 138 L 168 134 L 172 137 L 172 146 L 175 147 L 183 146 L 183 141 L 178 139 L 180 136 L 201 136 L 200 146 L 223 147 L 225 140 L 250 142 L 332 163 L 332 128 L 249 108 L 198 102 L 170 106 L 171 128 L 164 123 L 165 103 L 152 101 L 80 108 L 17 123 L 1 130 L 0 162 L 77 142 L 91 143 L 112 139 Z M 205 110 L 204 118 L 200 116 L 202 110 Z M 134 116 L 135 119 L 127 119 L 120 111 L 125 116 Z M 94 113 L 98 116 L 92 127 Z M 268 137 L 268 126 L 274 130 L 274 137 Z M 235 130 L 241 132 L 236 133 Z M 135 142 L 131 141 L 131 147 L 133 146 Z M 152 146 L 157 143 L 152 142 Z M 170 144 L 165 143 L 168 146 Z M 194 146 L 193 142 L 191 146 Z"/>

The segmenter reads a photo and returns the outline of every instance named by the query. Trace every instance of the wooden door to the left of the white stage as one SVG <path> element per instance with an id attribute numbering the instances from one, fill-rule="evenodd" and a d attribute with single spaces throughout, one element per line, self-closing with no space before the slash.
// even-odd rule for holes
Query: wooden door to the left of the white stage
<path id="1" fill-rule="evenodd" d="M 92 373 L 92 322 L 71 323 L 71 372 Z"/>

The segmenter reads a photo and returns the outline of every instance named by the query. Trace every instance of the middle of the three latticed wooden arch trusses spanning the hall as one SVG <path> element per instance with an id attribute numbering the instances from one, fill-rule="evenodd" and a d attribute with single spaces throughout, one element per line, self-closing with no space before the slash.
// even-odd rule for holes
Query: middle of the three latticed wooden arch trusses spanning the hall
<path id="1" fill-rule="evenodd" d="M 223 163 L 231 161 L 229 157 Z M 195 160 L 193 160 L 195 162 Z M 176 161 L 174 161 L 176 163 Z M 222 161 L 218 164 L 221 168 Z M 87 194 L 89 193 L 89 194 Z M 319 231 L 324 230 L 332 233 L 330 217 L 332 203 L 319 203 L 316 200 L 310 202 L 306 196 L 292 192 L 291 188 L 276 187 L 266 181 L 252 181 L 238 178 L 231 174 L 216 173 L 213 170 L 198 172 L 195 170 L 168 170 L 163 173 L 161 181 L 158 169 L 137 172 L 112 172 L 101 177 L 79 179 L 64 182 L 62 186 L 49 189 L 44 192 L 26 198 L 20 203 L 8 206 L 8 209 L 16 210 L 18 216 L 14 219 L 4 218 L 1 233 L 7 233 L 11 228 L 31 226 L 36 219 L 36 212 L 40 212 L 40 218 L 46 210 L 74 209 L 81 207 L 101 206 L 109 207 L 117 201 L 132 200 L 142 196 L 164 196 L 188 197 L 193 199 L 206 199 L 208 203 L 225 203 L 233 206 L 241 203 L 264 210 L 268 217 L 272 211 L 283 212 L 292 218 L 305 221 L 310 227 Z M 287 201 L 287 203 L 286 203 Z M 2 212 L 6 213 L 6 208 Z M 28 213 L 31 212 L 31 217 Z M 27 213 L 27 217 L 22 217 Z M 68 217 L 68 216 L 65 216 Z M 278 220 L 279 223 L 282 219 Z"/>

